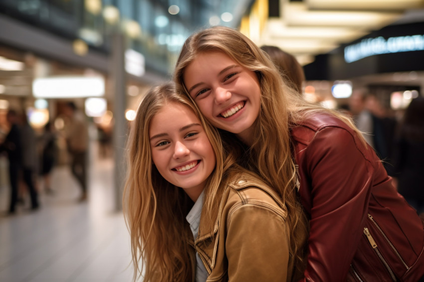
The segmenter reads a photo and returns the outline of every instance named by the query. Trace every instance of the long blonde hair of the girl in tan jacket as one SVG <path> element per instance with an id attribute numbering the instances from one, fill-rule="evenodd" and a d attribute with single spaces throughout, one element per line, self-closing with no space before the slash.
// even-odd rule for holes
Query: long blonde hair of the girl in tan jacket
<path id="1" fill-rule="evenodd" d="M 216 167 L 205 188 L 203 207 L 210 222 L 216 219 L 214 211 L 225 186 L 223 172 L 235 164 L 235 157 L 223 152 L 216 129 L 204 120 L 197 106 L 181 91 L 171 82 L 152 88 L 131 125 L 123 206 L 131 236 L 134 281 L 141 276 L 146 282 L 192 281 L 194 273 L 187 244 L 187 236 L 193 234 L 186 221 L 193 201 L 183 189 L 166 181 L 152 162 L 149 124 L 156 113 L 168 103 L 182 104 L 197 115 L 204 127 L 216 156 Z"/>

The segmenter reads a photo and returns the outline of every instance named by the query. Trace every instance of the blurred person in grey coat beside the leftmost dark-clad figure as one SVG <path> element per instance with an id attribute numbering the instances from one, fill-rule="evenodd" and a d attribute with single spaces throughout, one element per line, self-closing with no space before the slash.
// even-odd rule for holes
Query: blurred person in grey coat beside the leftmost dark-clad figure
<path id="1" fill-rule="evenodd" d="M 31 210 L 39 207 L 38 194 L 35 189 L 35 176 L 37 171 L 37 151 L 35 132 L 28 123 L 25 114 L 22 115 L 22 127 L 20 128 L 22 145 L 22 176 L 26 189 L 31 198 Z"/>

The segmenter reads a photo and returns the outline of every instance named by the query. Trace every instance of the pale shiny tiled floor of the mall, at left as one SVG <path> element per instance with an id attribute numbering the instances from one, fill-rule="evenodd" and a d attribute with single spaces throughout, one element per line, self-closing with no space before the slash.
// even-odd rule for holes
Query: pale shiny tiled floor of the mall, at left
<path id="1" fill-rule="evenodd" d="M 40 193 L 39 211 L 23 206 L 14 216 L 0 217 L 1 282 L 132 280 L 129 235 L 122 212 L 114 207 L 113 166 L 112 159 L 91 161 L 89 200 L 84 203 L 77 203 L 79 189 L 69 168 L 56 167 L 56 193 Z M 1 182 L 4 213 L 9 191 Z"/>

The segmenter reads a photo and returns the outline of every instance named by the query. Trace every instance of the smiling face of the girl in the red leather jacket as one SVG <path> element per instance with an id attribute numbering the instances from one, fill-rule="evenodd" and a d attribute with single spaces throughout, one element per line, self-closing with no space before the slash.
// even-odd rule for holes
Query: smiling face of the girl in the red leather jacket
<path id="1" fill-rule="evenodd" d="M 259 114 L 256 74 L 222 52 L 200 53 L 184 70 L 184 84 L 213 126 L 249 144 Z"/>

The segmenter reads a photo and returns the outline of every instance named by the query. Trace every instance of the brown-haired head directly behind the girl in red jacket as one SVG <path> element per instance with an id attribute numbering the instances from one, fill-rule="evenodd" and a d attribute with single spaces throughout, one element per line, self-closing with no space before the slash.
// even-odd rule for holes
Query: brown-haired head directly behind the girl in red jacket
<path id="1" fill-rule="evenodd" d="M 263 45 L 260 47 L 270 57 L 274 65 L 280 71 L 281 76 L 289 81 L 289 85 L 302 94 L 302 84 L 305 81 L 305 73 L 296 58 L 281 50 L 277 46 Z"/>

